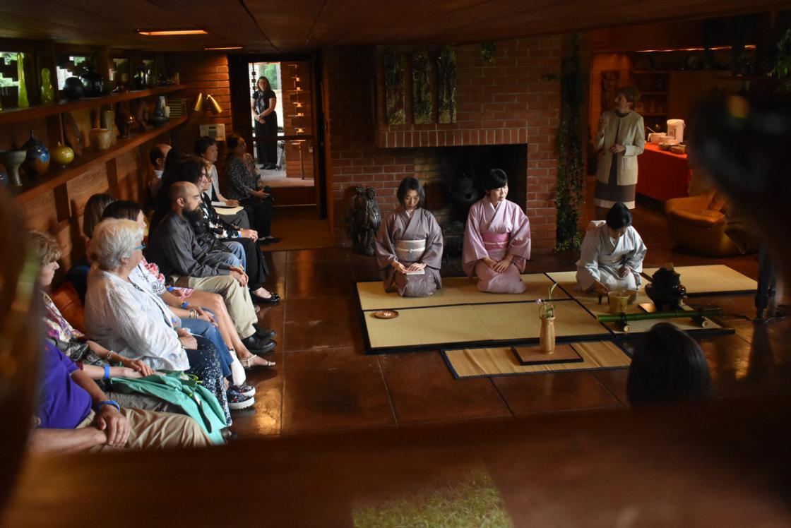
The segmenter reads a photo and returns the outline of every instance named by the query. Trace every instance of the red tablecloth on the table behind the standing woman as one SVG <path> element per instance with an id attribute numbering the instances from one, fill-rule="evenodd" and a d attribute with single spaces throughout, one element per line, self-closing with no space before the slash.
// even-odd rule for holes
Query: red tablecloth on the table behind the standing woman
<path id="1" fill-rule="evenodd" d="M 658 145 L 645 144 L 645 151 L 638 156 L 638 193 L 664 202 L 689 196 L 691 181 L 687 154 L 674 154 L 660 150 Z"/>

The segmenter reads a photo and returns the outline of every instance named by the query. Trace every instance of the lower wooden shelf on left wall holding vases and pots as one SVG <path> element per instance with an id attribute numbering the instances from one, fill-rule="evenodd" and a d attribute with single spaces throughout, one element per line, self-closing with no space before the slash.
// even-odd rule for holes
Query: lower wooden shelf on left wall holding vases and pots
<path id="1" fill-rule="evenodd" d="M 68 182 L 70 179 L 85 174 L 85 171 L 90 165 L 107 163 L 109 160 L 119 156 L 119 154 L 134 149 L 146 141 L 156 138 L 158 135 L 164 134 L 168 130 L 172 130 L 181 123 L 186 123 L 186 121 L 186 115 L 180 118 L 171 119 L 164 126 L 143 132 L 134 138 L 118 139 L 115 141 L 115 145 L 112 145 L 112 147 L 107 150 L 86 149 L 81 157 L 75 158 L 66 168 L 50 168 L 47 170 L 46 174 L 38 178 L 31 179 L 23 177 L 22 187 L 8 187 L 8 189 L 14 194 L 13 200 L 17 202 L 17 204 L 30 202 L 33 198 L 40 196 L 40 194 L 44 194 L 48 190 L 55 189 L 55 187 L 59 187 L 63 183 Z M 52 165 L 54 165 L 54 163 Z"/>

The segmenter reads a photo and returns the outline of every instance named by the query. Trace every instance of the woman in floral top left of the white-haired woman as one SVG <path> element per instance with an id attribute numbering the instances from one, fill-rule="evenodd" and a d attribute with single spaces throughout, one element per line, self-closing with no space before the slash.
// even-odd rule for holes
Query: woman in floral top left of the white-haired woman
<path id="1" fill-rule="evenodd" d="M 106 384 L 109 378 L 140 378 L 154 373 L 141 360 L 130 360 L 126 357 L 105 349 L 96 341 L 85 338 L 60 313 L 50 296 L 44 291 L 52 283 L 55 271 L 59 269 L 58 259 L 60 247 L 55 237 L 38 231 L 28 231 L 28 243 L 32 253 L 41 259 L 39 271 L 39 287 L 44 300 L 44 336 L 45 340 L 55 345 L 64 355 L 74 361 L 90 379 L 97 380 L 99 387 L 108 394 L 108 398 L 119 402 L 124 407 L 134 407 L 164 413 L 181 413 L 180 407 L 170 405 L 160 398 L 145 394 L 123 394 L 108 391 Z M 121 366 L 113 367 L 112 364 Z"/>

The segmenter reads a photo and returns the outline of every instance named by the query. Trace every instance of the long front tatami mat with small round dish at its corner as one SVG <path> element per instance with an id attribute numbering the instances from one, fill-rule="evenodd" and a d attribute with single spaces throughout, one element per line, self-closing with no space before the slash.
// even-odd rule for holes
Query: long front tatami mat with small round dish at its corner
<path id="1" fill-rule="evenodd" d="M 587 339 L 609 335 L 573 300 L 558 300 L 555 334 L 559 339 Z M 370 348 L 438 349 L 445 345 L 485 344 L 487 341 L 537 341 L 540 334 L 536 303 L 464 304 L 400 309 L 395 319 L 377 319 L 365 311 Z"/>

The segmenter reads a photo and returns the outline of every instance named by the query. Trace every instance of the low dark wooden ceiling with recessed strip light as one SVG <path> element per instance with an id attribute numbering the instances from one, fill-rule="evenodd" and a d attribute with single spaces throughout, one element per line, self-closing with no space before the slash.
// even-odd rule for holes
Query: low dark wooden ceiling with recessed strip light
<path id="1" fill-rule="evenodd" d="M 770 0 L 2 0 L 0 37 L 152 51 L 472 43 L 791 9 Z M 140 36 L 137 28 L 208 35 Z"/>

